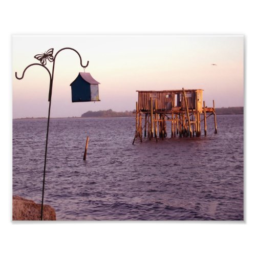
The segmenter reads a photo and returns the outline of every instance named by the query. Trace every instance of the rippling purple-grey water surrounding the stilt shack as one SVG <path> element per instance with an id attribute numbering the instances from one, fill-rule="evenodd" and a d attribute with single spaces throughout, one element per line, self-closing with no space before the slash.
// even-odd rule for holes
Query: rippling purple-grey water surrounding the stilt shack
<path id="1" fill-rule="evenodd" d="M 51 119 L 44 203 L 57 220 L 243 220 L 243 115 L 217 124 L 214 134 L 207 119 L 207 137 L 132 145 L 134 118 Z M 46 129 L 13 120 L 13 195 L 37 203 Z"/>

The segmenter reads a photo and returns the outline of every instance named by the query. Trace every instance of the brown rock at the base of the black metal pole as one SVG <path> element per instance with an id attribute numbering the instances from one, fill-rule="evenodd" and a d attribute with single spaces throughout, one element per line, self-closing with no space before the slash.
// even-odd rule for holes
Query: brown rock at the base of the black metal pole
<path id="1" fill-rule="evenodd" d="M 39 221 L 41 220 L 41 204 L 36 204 L 19 196 L 12 197 L 12 220 L 13 221 Z M 43 220 L 56 221 L 55 210 L 44 204 Z"/>

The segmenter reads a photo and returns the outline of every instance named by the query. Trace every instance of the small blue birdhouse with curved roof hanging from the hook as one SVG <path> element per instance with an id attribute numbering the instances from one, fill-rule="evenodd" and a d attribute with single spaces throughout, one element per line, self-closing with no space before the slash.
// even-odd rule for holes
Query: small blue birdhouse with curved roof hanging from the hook
<path id="1" fill-rule="evenodd" d="M 99 84 L 90 73 L 80 72 L 70 84 L 72 102 L 100 101 Z"/>

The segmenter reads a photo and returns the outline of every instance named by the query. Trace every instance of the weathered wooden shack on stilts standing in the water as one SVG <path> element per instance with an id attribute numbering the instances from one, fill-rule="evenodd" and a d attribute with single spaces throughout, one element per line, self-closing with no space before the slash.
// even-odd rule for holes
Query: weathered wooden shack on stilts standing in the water
<path id="1" fill-rule="evenodd" d="M 217 122 L 215 105 L 207 108 L 203 101 L 203 90 L 165 90 L 165 91 L 137 91 L 136 102 L 136 133 L 135 138 L 142 133 L 149 139 L 167 137 L 167 122 L 170 122 L 170 137 L 199 137 L 201 135 L 201 121 L 204 121 L 206 136 L 206 118 L 214 115 L 215 133 Z M 204 118 L 201 120 L 201 114 Z M 208 115 L 207 115 L 208 114 Z M 134 138 L 134 141 L 135 141 Z M 134 142 L 133 142 L 134 143 Z"/>

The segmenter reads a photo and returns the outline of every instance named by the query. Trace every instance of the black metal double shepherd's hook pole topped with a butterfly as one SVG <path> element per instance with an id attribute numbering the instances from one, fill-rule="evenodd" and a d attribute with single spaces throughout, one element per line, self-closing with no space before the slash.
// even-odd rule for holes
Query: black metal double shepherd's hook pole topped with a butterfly
<path id="1" fill-rule="evenodd" d="M 42 200 L 41 200 L 41 220 L 43 218 L 43 206 L 44 206 L 44 192 L 45 192 L 45 176 L 46 176 L 46 159 L 47 159 L 47 145 L 48 145 L 48 134 L 49 134 L 49 122 L 50 122 L 50 112 L 51 112 L 51 100 L 52 100 L 52 86 L 53 86 L 53 75 L 54 75 L 54 67 L 55 67 L 55 60 L 56 60 L 56 56 L 58 55 L 59 52 L 63 51 L 63 50 L 73 50 L 75 51 L 79 58 L 80 58 L 80 65 L 83 69 L 85 69 L 86 67 L 88 67 L 89 65 L 89 61 L 87 61 L 87 65 L 86 66 L 83 66 L 82 65 L 82 58 L 80 56 L 80 54 L 78 53 L 78 51 L 76 51 L 75 49 L 73 48 L 70 48 L 70 47 L 66 47 L 66 48 L 62 48 L 60 49 L 56 54 L 55 56 L 53 56 L 53 48 L 49 49 L 48 51 L 46 51 L 45 53 L 42 53 L 42 54 L 37 54 L 35 55 L 34 57 L 40 61 L 40 64 L 39 63 L 33 63 L 31 65 L 29 65 L 24 71 L 23 71 L 23 74 L 22 74 L 22 77 L 18 77 L 17 76 L 17 72 L 15 72 L 15 77 L 17 79 L 23 79 L 24 77 L 24 74 L 26 72 L 26 70 L 31 67 L 31 66 L 41 66 L 43 68 L 45 68 L 49 75 L 50 75 L 50 86 L 49 86 L 49 97 L 48 97 L 48 101 L 49 101 L 49 111 L 48 111 L 48 122 L 47 122 L 47 133 L 46 133 L 46 148 L 45 148 L 45 165 L 44 165 L 44 178 L 43 178 L 43 181 L 42 181 Z M 45 67 L 46 63 L 47 63 L 47 60 L 49 60 L 50 62 L 53 62 L 53 66 L 52 66 L 52 73 L 49 71 L 49 69 L 47 67 Z"/>

